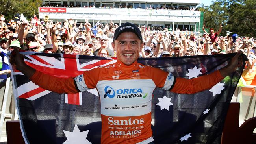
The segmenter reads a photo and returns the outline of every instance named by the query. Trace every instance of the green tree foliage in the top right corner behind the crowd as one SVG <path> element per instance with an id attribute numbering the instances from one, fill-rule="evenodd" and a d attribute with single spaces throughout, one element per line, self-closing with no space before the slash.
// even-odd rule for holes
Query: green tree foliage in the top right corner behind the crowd
<path id="1" fill-rule="evenodd" d="M 232 31 L 241 36 L 256 37 L 256 0 L 216 0 L 210 6 L 200 6 L 204 12 L 204 24 L 207 28 L 219 30 L 221 35 Z"/>

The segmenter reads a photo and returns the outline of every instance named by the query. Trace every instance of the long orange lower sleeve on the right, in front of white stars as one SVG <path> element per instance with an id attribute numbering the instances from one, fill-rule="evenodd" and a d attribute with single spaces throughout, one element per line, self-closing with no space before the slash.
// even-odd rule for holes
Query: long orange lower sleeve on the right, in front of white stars
<path id="1" fill-rule="evenodd" d="M 170 91 L 181 94 L 194 94 L 206 89 L 210 89 L 222 79 L 224 78 L 221 76 L 219 70 L 193 79 L 176 78 L 175 85 L 172 89 L 170 89 Z"/>

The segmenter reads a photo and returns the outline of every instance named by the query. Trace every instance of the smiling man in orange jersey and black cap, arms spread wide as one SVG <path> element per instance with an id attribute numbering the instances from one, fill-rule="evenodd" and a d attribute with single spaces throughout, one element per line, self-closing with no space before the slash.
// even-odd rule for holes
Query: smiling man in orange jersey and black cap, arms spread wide
<path id="1" fill-rule="evenodd" d="M 57 78 L 35 70 L 24 63 L 17 49 L 11 64 L 37 85 L 53 92 L 78 93 L 97 88 L 103 144 L 153 144 L 151 100 L 156 87 L 176 93 L 197 93 L 210 89 L 242 65 L 238 60 L 241 52 L 238 52 L 226 67 L 211 74 L 194 79 L 176 78 L 170 72 L 137 63 L 143 42 L 141 31 L 131 23 L 115 30 L 112 46 L 117 54 L 116 63 L 86 71 L 75 78 Z M 123 109 L 113 107 L 116 104 Z"/>

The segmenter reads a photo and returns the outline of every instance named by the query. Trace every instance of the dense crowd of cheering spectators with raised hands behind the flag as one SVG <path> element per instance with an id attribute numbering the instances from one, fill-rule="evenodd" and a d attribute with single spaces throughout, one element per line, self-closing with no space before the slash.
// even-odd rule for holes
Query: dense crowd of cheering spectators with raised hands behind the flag
<path id="1" fill-rule="evenodd" d="M 6 22 L 3 15 L 0 20 L 1 53 L 7 53 L 17 47 L 33 52 L 116 57 L 111 43 L 119 26 L 114 22 L 98 22 L 96 28 L 93 28 L 88 20 L 77 24 L 76 20 L 68 19 L 62 24 L 52 20 L 41 22 L 34 16 L 30 21 Z M 252 68 L 254 71 L 256 39 L 253 37 L 219 36 L 222 26 L 219 26 L 217 32 L 210 28 L 209 33 L 203 28 L 202 35 L 179 29 L 152 31 L 147 26 L 140 26 L 140 29 L 144 43 L 141 57 L 214 55 L 242 50 L 249 58 L 245 72 L 251 73 Z"/>

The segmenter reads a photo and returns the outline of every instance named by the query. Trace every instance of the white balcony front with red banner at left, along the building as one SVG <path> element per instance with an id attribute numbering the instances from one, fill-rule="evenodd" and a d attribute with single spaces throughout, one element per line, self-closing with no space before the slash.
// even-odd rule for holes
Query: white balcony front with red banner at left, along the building
<path id="1" fill-rule="evenodd" d="M 39 18 L 48 15 L 50 19 L 64 20 L 128 20 L 156 22 L 200 22 L 200 11 L 119 9 L 119 8 L 66 8 L 39 7 Z"/>

